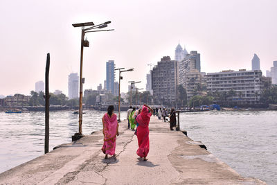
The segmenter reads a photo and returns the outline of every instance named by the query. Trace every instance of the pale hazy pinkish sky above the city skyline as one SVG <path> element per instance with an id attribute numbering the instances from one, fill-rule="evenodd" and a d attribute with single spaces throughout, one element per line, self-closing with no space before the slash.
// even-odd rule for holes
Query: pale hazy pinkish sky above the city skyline
<path id="1" fill-rule="evenodd" d="M 253 53 L 265 70 L 277 60 L 276 0 L 180 1 L 0 1 L 0 94 L 29 94 L 44 80 L 51 54 L 50 89 L 68 94 L 71 72 L 80 70 L 80 28 L 71 24 L 111 21 L 113 32 L 89 33 L 84 49 L 84 89 L 106 77 L 107 60 L 128 80 L 145 88 L 148 64 L 164 55 L 174 59 L 180 44 L 201 53 L 202 71 L 251 69 Z M 116 80 L 118 73 L 116 73 Z"/>

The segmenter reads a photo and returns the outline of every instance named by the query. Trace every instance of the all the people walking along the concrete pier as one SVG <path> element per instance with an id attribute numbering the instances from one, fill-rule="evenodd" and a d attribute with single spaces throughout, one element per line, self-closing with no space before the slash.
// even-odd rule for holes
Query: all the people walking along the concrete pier
<path id="1" fill-rule="evenodd" d="M 163 121 L 166 122 L 166 116 L 168 112 L 165 108 L 151 108 L 148 105 L 143 105 L 140 109 L 139 107 L 130 106 L 127 110 L 127 120 L 128 120 L 128 129 L 135 131 L 139 148 L 136 150 L 136 154 L 139 157 L 143 158 L 144 161 L 147 161 L 148 152 L 150 150 L 150 141 L 149 141 L 149 123 L 150 117 L 152 115 L 158 116 L 161 119 L 163 116 Z M 173 127 L 176 127 L 176 115 L 175 109 L 172 108 L 169 114 L 170 118 L 170 130 L 173 130 Z M 102 146 L 102 152 L 105 154 L 105 159 L 108 158 L 108 155 L 116 156 L 116 136 L 119 135 L 118 132 L 118 121 L 117 116 L 114 114 L 114 106 L 109 105 L 107 113 L 102 117 L 103 124 L 103 135 L 104 135 L 104 144 Z M 135 130 L 136 128 L 136 130 Z"/>

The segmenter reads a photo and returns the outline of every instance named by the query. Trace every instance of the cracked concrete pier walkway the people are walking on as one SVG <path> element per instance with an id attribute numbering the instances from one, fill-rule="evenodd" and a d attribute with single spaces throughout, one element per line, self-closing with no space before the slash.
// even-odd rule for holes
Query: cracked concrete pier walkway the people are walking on
<path id="1" fill-rule="evenodd" d="M 136 155 L 138 143 L 127 121 L 120 123 L 116 155 L 104 159 L 102 132 L 63 144 L 46 155 L 0 174 L 0 184 L 265 184 L 245 178 L 152 116 L 148 161 Z"/>

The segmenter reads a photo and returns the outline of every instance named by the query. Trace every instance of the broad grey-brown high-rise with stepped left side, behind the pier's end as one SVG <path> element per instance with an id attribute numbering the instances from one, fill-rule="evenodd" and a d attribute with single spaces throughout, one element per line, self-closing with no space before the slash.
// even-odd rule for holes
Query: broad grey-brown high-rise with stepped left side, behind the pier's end
<path id="1" fill-rule="evenodd" d="M 156 103 L 175 105 L 177 101 L 177 61 L 161 58 L 152 69 L 152 89 Z"/>

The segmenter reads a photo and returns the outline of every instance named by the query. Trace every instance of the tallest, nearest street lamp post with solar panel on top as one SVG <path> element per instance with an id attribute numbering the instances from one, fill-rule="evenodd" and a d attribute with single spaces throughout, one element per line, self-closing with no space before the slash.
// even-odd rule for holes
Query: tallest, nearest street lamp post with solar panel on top
<path id="1" fill-rule="evenodd" d="M 94 25 L 93 22 L 85 22 L 85 23 L 78 23 L 72 24 L 73 27 L 81 27 L 82 28 L 82 35 L 81 35 L 81 56 L 80 56 L 80 97 L 79 97 L 79 132 L 72 136 L 72 140 L 75 141 L 82 137 L 82 85 L 84 83 L 84 78 L 82 78 L 82 64 L 83 64 L 83 54 L 84 54 L 84 47 L 89 47 L 89 41 L 87 39 L 84 40 L 84 35 L 89 32 L 99 32 L 99 31 L 110 31 L 109 30 L 93 30 L 93 29 L 100 29 L 107 27 L 107 24 L 110 24 L 111 21 L 107 21 L 102 24 Z M 89 28 L 85 28 L 86 26 L 90 26 Z"/>

